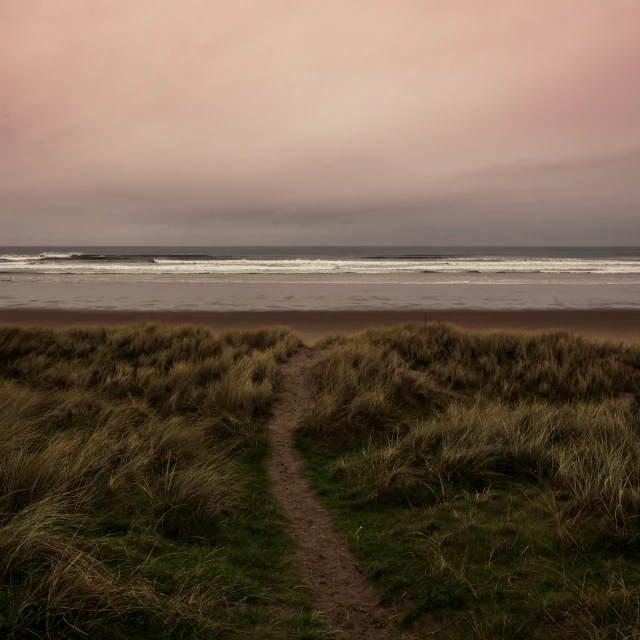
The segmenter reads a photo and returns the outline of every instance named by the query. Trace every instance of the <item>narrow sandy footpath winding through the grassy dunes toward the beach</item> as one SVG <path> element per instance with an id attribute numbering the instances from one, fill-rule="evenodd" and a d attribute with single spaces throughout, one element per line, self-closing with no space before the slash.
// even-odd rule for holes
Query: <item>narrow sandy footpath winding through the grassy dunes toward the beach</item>
<path id="1" fill-rule="evenodd" d="M 390 637 L 393 614 L 379 606 L 373 587 L 333 530 L 329 514 L 302 476 L 303 462 L 293 448 L 295 431 L 313 400 L 311 367 L 319 355 L 303 348 L 284 365 L 282 391 L 269 423 L 269 476 L 290 521 L 311 600 L 325 623 L 336 638 L 382 640 Z"/>

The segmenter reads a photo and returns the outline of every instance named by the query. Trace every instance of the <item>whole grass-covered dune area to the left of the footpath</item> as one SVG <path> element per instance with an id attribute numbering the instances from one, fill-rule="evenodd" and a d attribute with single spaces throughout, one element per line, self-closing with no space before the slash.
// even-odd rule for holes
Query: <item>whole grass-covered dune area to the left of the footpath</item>
<path id="1" fill-rule="evenodd" d="M 285 329 L 0 329 L 0 635 L 322 638 L 268 493 Z"/>

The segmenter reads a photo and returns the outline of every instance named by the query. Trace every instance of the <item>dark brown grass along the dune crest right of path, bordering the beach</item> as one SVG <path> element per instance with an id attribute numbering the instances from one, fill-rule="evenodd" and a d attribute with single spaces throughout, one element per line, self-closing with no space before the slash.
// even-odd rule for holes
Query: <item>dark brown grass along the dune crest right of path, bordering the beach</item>
<path id="1" fill-rule="evenodd" d="M 434 323 L 372 330 L 359 341 L 389 349 L 409 368 L 465 394 L 593 401 L 640 391 L 640 346 L 568 331 L 473 332 Z"/>

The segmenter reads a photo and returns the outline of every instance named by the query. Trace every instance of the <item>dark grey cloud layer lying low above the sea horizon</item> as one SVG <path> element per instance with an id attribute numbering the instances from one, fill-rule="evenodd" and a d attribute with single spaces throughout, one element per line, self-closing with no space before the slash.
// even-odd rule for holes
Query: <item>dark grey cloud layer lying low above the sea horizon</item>
<path id="1" fill-rule="evenodd" d="M 26 229 L 13 244 L 28 244 L 44 225 L 43 244 L 76 237 L 95 244 L 629 245 L 640 241 L 638 176 L 634 154 L 500 167 L 432 184 L 418 198 L 278 202 L 265 195 L 248 204 L 241 194 L 216 202 L 213 193 L 158 187 L 14 194 L 0 197 L 0 207 L 12 208 Z"/>

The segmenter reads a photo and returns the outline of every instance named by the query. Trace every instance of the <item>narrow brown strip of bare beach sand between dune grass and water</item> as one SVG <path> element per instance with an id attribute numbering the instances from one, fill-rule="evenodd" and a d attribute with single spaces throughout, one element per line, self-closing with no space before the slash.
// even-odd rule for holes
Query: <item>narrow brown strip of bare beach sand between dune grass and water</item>
<path id="1" fill-rule="evenodd" d="M 352 334 L 369 327 L 403 323 L 451 322 L 466 329 L 539 331 L 566 329 L 591 337 L 640 341 L 640 309 L 519 309 L 412 311 L 117 311 L 74 309 L 0 309 L 0 325 L 51 328 L 117 325 L 132 322 L 202 324 L 216 331 L 286 325 L 307 342 L 330 333 Z"/>

